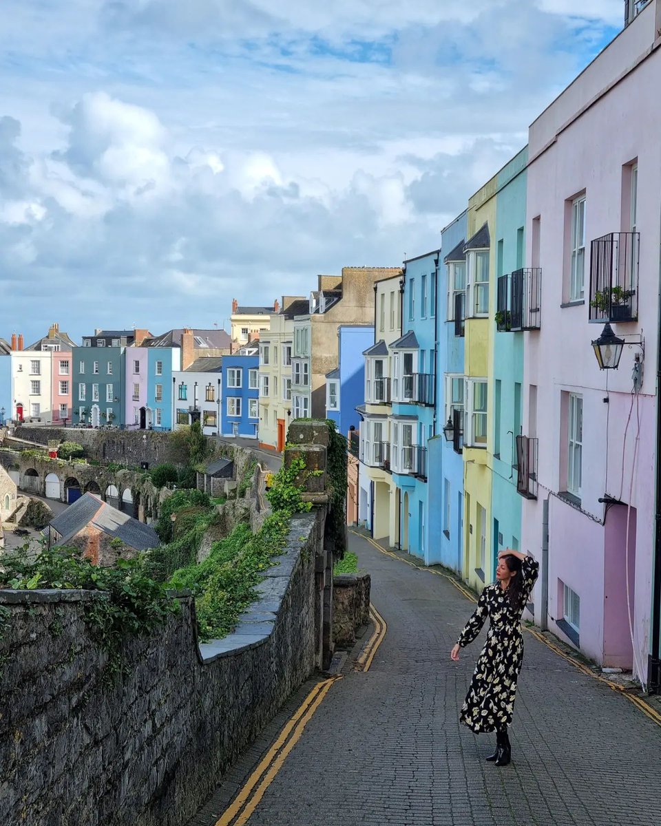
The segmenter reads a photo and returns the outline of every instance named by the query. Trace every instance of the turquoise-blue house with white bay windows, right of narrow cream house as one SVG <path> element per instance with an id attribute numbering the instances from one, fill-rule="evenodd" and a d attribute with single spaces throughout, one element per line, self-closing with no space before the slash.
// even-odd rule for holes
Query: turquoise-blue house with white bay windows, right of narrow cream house
<path id="1" fill-rule="evenodd" d="M 399 547 L 434 563 L 429 544 L 427 444 L 436 433 L 437 273 L 440 250 L 404 262 L 402 336 L 392 358 L 391 471 L 400 508 Z"/>

